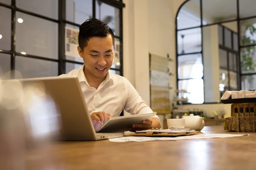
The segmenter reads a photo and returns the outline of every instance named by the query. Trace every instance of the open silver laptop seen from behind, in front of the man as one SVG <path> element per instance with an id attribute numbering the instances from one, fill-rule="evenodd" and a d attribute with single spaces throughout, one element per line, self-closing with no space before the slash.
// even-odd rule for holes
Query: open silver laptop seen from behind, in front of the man
<path id="1" fill-rule="evenodd" d="M 61 117 L 61 140 L 95 141 L 122 137 L 123 133 L 96 133 L 77 77 L 19 79 L 23 85 L 43 83 L 58 106 Z"/>

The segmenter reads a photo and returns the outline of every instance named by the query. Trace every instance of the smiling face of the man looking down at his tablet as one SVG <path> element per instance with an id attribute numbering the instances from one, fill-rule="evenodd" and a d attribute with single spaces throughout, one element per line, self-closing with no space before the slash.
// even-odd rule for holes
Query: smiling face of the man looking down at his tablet
<path id="1" fill-rule="evenodd" d="M 84 51 L 78 46 L 78 52 L 84 60 L 84 70 L 94 78 L 104 78 L 114 61 L 114 47 L 111 35 L 91 37 Z"/>

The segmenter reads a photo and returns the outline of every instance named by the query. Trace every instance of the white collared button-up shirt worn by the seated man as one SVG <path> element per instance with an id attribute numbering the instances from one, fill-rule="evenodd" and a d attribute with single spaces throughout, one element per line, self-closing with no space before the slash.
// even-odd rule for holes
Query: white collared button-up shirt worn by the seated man
<path id="1" fill-rule="evenodd" d="M 78 77 L 90 114 L 104 111 L 110 113 L 111 117 L 116 117 L 123 109 L 131 114 L 153 112 L 125 77 L 108 71 L 106 79 L 96 89 L 88 84 L 83 68 L 84 65 L 59 77 Z M 156 115 L 154 117 L 158 118 Z"/>

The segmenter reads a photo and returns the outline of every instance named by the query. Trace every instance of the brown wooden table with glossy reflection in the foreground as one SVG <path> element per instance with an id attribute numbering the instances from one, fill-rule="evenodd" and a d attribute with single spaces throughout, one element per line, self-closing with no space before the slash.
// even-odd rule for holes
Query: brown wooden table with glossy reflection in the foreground
<path id="1" fill-rule="evenodd" d="M 203 133 L 232 133 L 223 126 Z M 255 170 L 256 133 L 179 141 L 58 142 L 32 150 L 26 170 Z"/>

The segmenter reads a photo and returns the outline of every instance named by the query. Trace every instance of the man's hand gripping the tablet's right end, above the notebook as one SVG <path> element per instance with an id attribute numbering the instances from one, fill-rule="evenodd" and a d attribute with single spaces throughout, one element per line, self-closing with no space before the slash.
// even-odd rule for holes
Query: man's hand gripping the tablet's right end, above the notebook
<path id="1" fill-rule="evenodd" d="M 137 130 L 148 130 L 152 128 L 159 128 L 161 125 L 157 118 L 152 117 L 149 120 L 144 120 L 141 124 L 132 125 L 132 127 L 129 129 L 131 132 L 135 132 Z"/>

